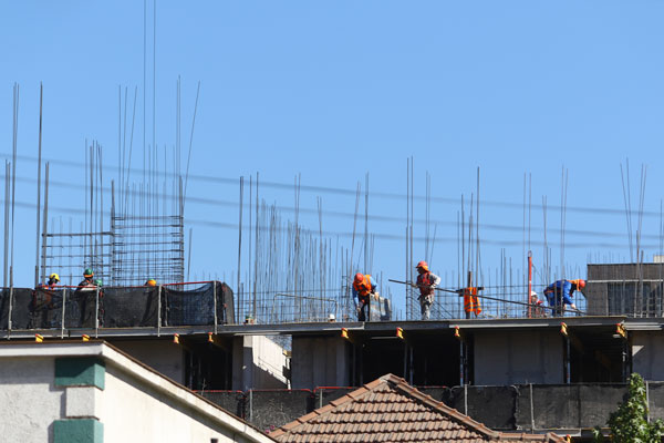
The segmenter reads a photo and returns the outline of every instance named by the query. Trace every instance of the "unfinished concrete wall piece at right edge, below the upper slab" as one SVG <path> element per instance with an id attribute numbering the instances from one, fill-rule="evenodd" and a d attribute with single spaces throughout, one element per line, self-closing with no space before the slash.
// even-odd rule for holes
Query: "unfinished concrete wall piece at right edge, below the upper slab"
<path id="1" fill-rule="evenodd" d="M 664 332 L 630 331 L 632 370 L 645 380 L 664 380 Z"/>

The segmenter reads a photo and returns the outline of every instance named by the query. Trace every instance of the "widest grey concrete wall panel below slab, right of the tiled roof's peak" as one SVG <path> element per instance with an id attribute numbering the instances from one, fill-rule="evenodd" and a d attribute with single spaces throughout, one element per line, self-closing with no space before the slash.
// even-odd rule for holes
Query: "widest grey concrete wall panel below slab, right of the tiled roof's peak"
<path id="1" fill-rule="evenodd" d="M 474 384 L 562 383 L 563 346 L 558 331 L 474 332 Z"/>

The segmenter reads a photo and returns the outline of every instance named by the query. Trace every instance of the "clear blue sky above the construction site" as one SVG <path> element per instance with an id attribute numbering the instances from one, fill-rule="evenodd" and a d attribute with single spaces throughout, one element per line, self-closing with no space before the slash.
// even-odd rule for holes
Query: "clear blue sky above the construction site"
<path id="1" fill-rule="evenodd" d="M 85 140 L 104 146 L 107 175 L 117 165 L 118 86 L 138 87 L 135 143 L 143 141 L 143 2 L 7 2 L 0 13 L 0 152 L 11 152 L 12 85 L 20 83 L 19 154 L 37 156 L 39 84 L 44 84 L 44 157 L 52 179 L 83 186 L 76 162 Z M 147 103 L 152 141 L 152 7 L 148 2 Z M 631 165 L 632 206 L 647 167 L 645 259 L 660 244 L 664 140 L 664 3 L 658 1 L 157 1 L 156 140 L 175 143 L 175 99 L 183 81 L 183 145 L 200 81 L 190 174 L 354 190 L 406 193 L 406 158 L 415 159 L 415 194 L 432 174 L 433 270 L 457 272 L 460 195 L 476 190 L 480 168 L 481 260 L 500 266 L 501 248 L 522 268 L 523 176 L 532 176 L 536 265 L 543 215 L 553 266 L 560 264 L 561 169 L 569 171 L 566 261 L 585 276 L 609 255 L 629 260 L 621 184 Z M 135 164 L 139 164 L 138 157 Z M 69 163 L 69 164 L 68 164 Z M 35 177 L 20 161 L 17 175 Z M 236 205 L 188 204 L 194 228 L 191 272 L 220 278 L 237 269 L 238 186 L 191 181 L 189 195 Z M 323 230 L 351 233 L 354 196 L 302 192 Z M 293 206 L 292 189 L 261 197 Z M 374 274 L 402 278 L 405 199 L 370 197 L 376 234 Z M 440 200 L 436 199 L 439 198 Z M 19 182 L 17 199 L 34 204 L 35 182 Z M 52 207 L 82 208 L 79 189 L 54 187 Z M 453 202 L 453 203 L 449 203 Z M 512 205 L 492 205 L 491 203 Z M 577 210 L 612 209 L 612 212 Z M 32 284 L 34 209 L 20 206 L 17 285 Z M 415 205 L 424 218 L 424 204 Z M 361 206 L 361 212 L 363 207 Z M 329 213 L 330 215 L 326 215 Z M 69 217 L 71 214 L 60 214 Z M 76 217 L 76 214 L 73 214 Z M 284 217 L 292 214 L 284 213 Z M 302 216 L 318 229 L 318 217 Z M 636 215 L 633 217 L 634 229 Z M 363 226 L 362 226 L 363 228 Z M 424 236 L 422 224 L 416 236 Z M 384 235 L 384 237 L 382 236 Z M 347 237 L 340 239 L 349 245 Z M 415 245 L 416 259 L 424 244 Z M 362 259 L 361 259 L 362 260 Z M 245 265 L 247 266 L 247 265 Z M 489 270 L 489 268 L 491 270 Z M 455 274 L 456 275 L 456 274 Z M 571 276 L 569 276 L 571 277 Z M 574 276 L 575 277 L 575 276 Z M 494 279 L 495 277 L 492 277 Z M 234 285 L 231 285 L 234 286 Z M 387 288 L 384 288 L 385 291 Z M 391 288 L 397 292 L 396 287 Z"/>

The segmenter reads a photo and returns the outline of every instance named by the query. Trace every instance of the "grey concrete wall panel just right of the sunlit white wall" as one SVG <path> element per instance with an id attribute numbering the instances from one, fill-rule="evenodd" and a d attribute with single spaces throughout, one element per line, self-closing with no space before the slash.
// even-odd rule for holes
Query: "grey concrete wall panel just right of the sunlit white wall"
<path id="1" fill-rule="evenodd" d="M 339 337 L 293 337 L 292 388 L 347 387 L 351 373 L 347 346 Z"/>

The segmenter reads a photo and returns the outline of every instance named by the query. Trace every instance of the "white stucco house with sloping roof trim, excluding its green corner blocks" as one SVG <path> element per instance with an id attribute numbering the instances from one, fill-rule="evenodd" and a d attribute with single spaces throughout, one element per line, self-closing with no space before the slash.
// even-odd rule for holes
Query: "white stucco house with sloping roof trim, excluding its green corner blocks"
<path id="1" fill-rule="evenodd" d="M 104 389 L 55 387 L 68 357 L 102 360 Z M 0 344 L 0 442 L 52 442 L 63 419 L 98 420 L 105 443 L 274 442 L 105 343 Z"/>

